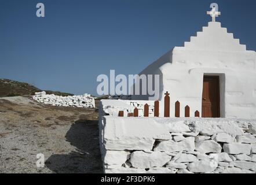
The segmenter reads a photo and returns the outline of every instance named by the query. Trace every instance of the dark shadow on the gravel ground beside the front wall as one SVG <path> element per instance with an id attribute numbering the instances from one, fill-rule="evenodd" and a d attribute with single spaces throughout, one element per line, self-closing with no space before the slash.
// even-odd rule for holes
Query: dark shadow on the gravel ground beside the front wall
<path id="1" fill-rule="evenodd" d="M 45 162 L 47 168 L 56 173 L 103 173 L 97 120 L 75 121 L 65 138 L 77 150 L 53 154 Z"/>

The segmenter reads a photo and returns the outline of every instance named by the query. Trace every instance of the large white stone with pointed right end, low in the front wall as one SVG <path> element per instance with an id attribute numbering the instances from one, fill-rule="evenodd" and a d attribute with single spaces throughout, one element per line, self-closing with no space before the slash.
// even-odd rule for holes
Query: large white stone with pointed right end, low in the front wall
<path id="1" fill-rule="evenodd" d="M 134 168 L 160 167 L 171 160 L 171 156 L 160 151 L 145 153 L 144 151 L 134 151 L 131 153 L 130 162 Z"/>

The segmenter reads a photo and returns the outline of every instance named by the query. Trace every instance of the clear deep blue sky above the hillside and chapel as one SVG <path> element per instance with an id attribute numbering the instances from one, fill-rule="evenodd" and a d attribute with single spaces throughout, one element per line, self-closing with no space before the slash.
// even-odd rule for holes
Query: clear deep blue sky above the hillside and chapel
<path id="1" fill-rule="evenodd" d="M 139 73 L 201 31 L 211 2 L 222 27 L 256 50 L 255 0 L 0 0 L 0 78 L 96 95 L 98 75 Z"/>

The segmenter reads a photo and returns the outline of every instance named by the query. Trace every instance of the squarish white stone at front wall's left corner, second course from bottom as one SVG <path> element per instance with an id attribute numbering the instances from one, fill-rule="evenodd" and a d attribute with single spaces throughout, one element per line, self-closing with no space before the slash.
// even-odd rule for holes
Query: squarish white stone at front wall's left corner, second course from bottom
<path id="1" fill-rule="evenodd" d="M 124 164 L 130 157 L 129 151 L 112 151 L 107 150 L 104 157 L 104 163 L 108 165 Z"/>

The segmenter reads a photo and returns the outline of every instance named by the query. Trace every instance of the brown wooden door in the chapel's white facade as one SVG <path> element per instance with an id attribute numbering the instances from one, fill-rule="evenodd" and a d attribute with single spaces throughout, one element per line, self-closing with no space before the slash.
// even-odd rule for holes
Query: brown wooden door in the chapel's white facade
<path id="1" fill-rule="evenodd" d="M 202 117 L 220 117 L 220 79 L 203 77 Z"/>

